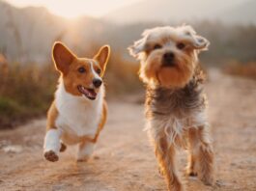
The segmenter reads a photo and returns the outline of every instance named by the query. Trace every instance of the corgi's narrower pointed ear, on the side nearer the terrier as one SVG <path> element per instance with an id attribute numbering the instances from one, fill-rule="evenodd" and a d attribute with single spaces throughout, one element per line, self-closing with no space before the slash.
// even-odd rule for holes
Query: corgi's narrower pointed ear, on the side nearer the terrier
<path id="1" fill-rule="evenodd" d="M 107 61 L 110 56 L 110 46 L 102 45 L 98 53 L 94 56 L 94 59 L 97 60 L 100 64 L 101 70 L 104 72 L 106 68 Z"/>

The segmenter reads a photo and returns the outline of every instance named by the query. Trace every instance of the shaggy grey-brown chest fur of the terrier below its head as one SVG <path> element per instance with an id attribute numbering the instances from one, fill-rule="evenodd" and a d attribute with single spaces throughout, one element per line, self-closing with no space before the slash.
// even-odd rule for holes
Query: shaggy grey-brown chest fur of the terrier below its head
<path id="1" fill-rule="evenodd" d="M 207 123 L 206 96 L 203 93 L 203 78 L 195 74 L 182 89 L 148 87 L 146 95 L 146 118 L 148 128 L 156 133 L 167 133 L 174 141 L 189 127 Z"/>

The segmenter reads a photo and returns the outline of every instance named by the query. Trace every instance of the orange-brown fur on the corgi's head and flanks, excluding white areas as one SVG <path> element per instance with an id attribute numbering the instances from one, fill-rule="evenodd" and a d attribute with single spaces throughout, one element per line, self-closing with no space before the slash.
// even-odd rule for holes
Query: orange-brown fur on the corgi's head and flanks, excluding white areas
<path id="1" fill-rule="evenodd" d="M 106 46 L 102 46 L 99 52 L 96 54 L 94 59 L 84 59 L 77 58 L 71 50 L 61 42 L 55 42 L 52 50 L 52 57 L 55 61 L 55 67 L 61 72 L 61 78 L 64 81 L 65 88 L 67 92 L 71 93 L 71 95 L 81 95 L 81 93 L 77 90 L 77 85 L 81 84 L 84 87 L 88 87 L 93 80 L 93 74 L 88 72 L 86 75 L 82 75 L 77 72 L 77 68 L 84 67 L 87 71 L 90 70 L 90 62 L 94 64 L 95 70 L 98 68 L 101 69 L 100 76 L 102 77 L 105 71 L 105 63 L 103 60 L 108 60 L 102 58 L 100 56 L 100 52 L 105 51 Z M 107 54 L 107 53 L 104 53 Z M 57 56 L 58 55 L 58 56 Z M 62 57 L 60 58 L 61 55 Z M 106 55 L 109 57 L 109 55 Z M 64 64 L 63 64 L 64 63 Z M 69 72 L 68 72 L 69 71 Z M 99 128 L 101 129 L 103 124 L 106 121 L 106 113 L 107 113 L 107 105 L 104 101 L 103 110 L 102 110 L 102 120 L 100 122 Z M 48 112 L 47 112 L 47 125 L 46 130 L 50 128 L 56 128 L 55 120 L 58 117 L 58 110 L 55 106 L 55 101 L 52 102 Z M 97 137 L 99 136 L 100 130 L 97 133 Z M 91 140 L 90 138 L 88 138 Z M 95 140 L 95 138 L 93 139 Z"/>

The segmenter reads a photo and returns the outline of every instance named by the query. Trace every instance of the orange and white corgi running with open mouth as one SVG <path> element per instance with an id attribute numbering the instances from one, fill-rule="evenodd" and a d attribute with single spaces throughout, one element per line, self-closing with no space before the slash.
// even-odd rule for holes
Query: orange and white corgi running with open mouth
<path id="1" fill-rule="evenodd" d="M 78 145 L 77 161 L 86 161 L 92 154 L 106 121 L 102 76 L 109 55 L 108 45 L 88 59 L 78 58 L 62 42 L 54 43 L 52 58 L 61 76 L 47 114 L 45 159 L 57 161 L 66 145 Z"/>

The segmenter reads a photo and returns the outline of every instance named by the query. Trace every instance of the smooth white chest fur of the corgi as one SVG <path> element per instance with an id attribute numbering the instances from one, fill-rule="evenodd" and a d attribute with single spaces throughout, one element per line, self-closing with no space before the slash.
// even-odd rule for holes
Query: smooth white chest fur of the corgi
<path id="1" fill-rule="evenodd" d="M 56 126 L 63 130 L 66 142 L 72 144 L 79 137 L 95 136 L 102 111 L 102 92 L 103 86 L 97 99 L 89 100 L 67 93 L 63 83 L 60 83 L 56 92 L 56 107 L 59 112 Z"/>

